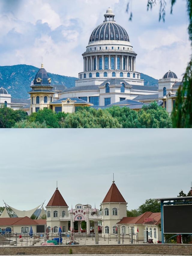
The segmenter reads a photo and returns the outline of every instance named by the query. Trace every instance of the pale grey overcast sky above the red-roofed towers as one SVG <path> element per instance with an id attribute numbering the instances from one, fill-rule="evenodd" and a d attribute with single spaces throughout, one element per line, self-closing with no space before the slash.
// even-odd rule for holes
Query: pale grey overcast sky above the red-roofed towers
<path id="1" fill-rule="evenodd" d="M 0 206 L 46 205 L 58 180 L 69 207 L 99 208 L 113 173 L 128 209 L 188 192 L 191 135 L 191 129 L 1 129 Z"/>

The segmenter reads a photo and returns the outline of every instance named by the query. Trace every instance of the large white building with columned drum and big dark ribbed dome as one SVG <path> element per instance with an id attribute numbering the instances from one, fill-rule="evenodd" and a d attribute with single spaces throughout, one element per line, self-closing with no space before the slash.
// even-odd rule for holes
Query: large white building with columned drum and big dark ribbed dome
<path id="1" fill-rule="evenodd" d="M 157 86 L 144 86 L 135 65 L 137 53 L 128 33 L 114 17 L 109 8 L 104 22 L 91 33 L 82 54 L 83 71 L 75 87 L 60 93 L 61 98 L 78 97 L 96 107 L 158 93 Z"/>

